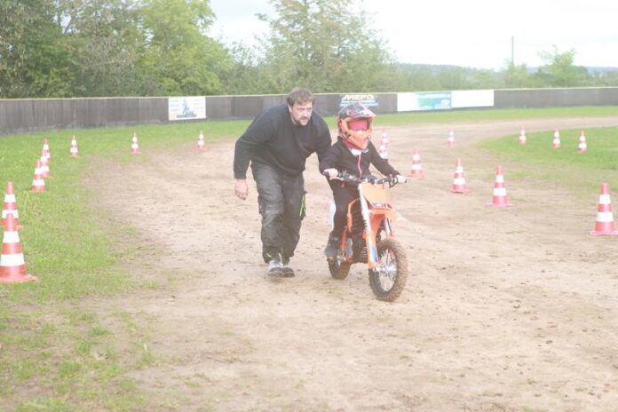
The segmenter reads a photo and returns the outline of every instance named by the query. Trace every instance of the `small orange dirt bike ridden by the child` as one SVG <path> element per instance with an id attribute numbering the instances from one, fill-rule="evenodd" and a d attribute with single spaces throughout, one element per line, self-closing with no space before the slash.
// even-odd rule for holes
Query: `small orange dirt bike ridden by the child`
<path id="1" fill-rule="evenodd" d="M 392 230 L 392 222 L 399 214 L 388 198 L 389 189 L 398 179 L 357 178 L 346 172 L 339 172 L 336 179 L 357 186 L 359 197 L 348 205 L 337 258 L 328 259 L 330 275 L 345 279 L 354 263 L 366 262 L 374 295 L 392 302 L 400 296 L 408 279 L 408 258 Z"/>

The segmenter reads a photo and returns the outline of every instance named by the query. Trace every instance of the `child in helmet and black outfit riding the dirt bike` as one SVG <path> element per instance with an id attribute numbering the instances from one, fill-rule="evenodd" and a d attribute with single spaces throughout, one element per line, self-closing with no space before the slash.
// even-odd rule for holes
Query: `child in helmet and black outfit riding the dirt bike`
<path id="1" fill-rule="evenodd" d="M 335 179 L 337 174 L 346 171 L 358 178 L 364 178 L 370 176 L 369 164 L 373 164 L 382 174 L 397 176 L 400 182 L 406 181 L 399 171 L 377 153 L 376 147 L 369 141 L 373 131 L 374 117 L 376 115 L 371 110 L 360 104 L 348 105 L 339 110 L 337 142 L 329 148 L 329 152 L 320 162 L 320 171 L 329 178 L 329 185 L 337 207 L 333 230 L 329 234 L 329 241 L 324 250 L 324 254 L 329 259 L 337 258 L 337 250 L 347 218 L 348 204 L 359 195 L 355 186 L 338 182 Z"/>

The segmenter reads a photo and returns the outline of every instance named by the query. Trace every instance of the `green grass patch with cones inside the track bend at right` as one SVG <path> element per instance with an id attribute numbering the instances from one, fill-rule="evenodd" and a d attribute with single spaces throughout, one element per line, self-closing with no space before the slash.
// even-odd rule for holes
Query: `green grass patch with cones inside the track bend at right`
<path id="1" fill-rule="evenodd" d="M 588 150 L 578 153 L 580 130 L 560 131 L 560 148 L 552 147 L 553 131 L 527 133 L 527 144 L 519 135 L 487 139 L 479 147 L 515 169 L 510 178 L 539 178 L 589 199 L 602 182 L 618 189 L 618 129 L 592 128 L 585 131 Z"/>

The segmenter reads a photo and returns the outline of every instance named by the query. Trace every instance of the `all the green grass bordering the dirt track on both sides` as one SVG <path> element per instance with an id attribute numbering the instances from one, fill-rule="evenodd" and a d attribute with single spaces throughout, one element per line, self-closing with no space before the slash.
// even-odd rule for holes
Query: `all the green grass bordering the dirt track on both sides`
<path id="1" fill-rule="evenodd" d="M 566 107 L 527 110 L 479 110 L 408 115 L 380 115 L 380 125 L 518 120 L 541 117 L 615 115 L 618 107 Z M 327 119 L 334 127 L 332 117 Z M 0 184 L 12 181 L 20 212 L 20 242 L 28 273 L 38 282 L 0 284 L 0 410 L 19 387 L 32 387 L 43 397 L 22 400 L 20 411 L 131 410 L 144 402 L 125 372 L 155 362 L 146 345 L 120 351 L 114 334 L 100 326 L 95 313 L 79 304 L 89 297 L 107 297 L 164 285 L 131 278 L 119 262 L 137 250 L 115 247 L 119 237 L 131 239 L 131 227 L 119 227 L 114 217 L 92 202 L 93 188 L 83 176 L 96 173 L 93 160 L 147 162 L 148 149 L 196 144 L 204 130 L 206 145 L 235 139 L 249 121 L 170 123 L 134 127 L 54 130 L 0 137 Z M 131 134 L 137 131 L 144 155 L 130 154 Z M 542 178 L 577 190 L 598 188 L 599 179 L 618 187 L 618 130 L 587 131 L 589 152 L 576 151 L 580 131 L 561 131 L 562 148 L 551 148 L 553 131 L 527 135 L 525 147 L 517 135 L 496 137 L 480 148 L 522 167 L 510 178 Z M 76 135 L 79 158 L 69 157 L 70 136 Z M 29 191 L 43 139 L 52 151 L 48 191 Z M 231 170 L 230 170 L 231 178 Z M 613 184 L 612 182 L 616 182 Z M 131 242 L 123 242 L 131 244 Z M 131 333 L 146 330 L 122 309 L 118 321 Z M 36 389 L 36 391 L 35 391 Z"/>

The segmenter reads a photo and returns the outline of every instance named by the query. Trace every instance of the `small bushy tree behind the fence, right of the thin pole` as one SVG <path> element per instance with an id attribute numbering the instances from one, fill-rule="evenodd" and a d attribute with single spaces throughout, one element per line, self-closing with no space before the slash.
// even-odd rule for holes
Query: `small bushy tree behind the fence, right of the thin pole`
<path id="1" fill-rule="evenodd" d="M 576 67 L 573 64 L 575 51 L 559 52 L 554 45 L 552 52 L 540 52 L 539 56 L 545 65 L 540 67 L 537 77 L 543 84 L 550 87 L 582 86 L 587 81 L 588 71 L 585 67 Z"/>

